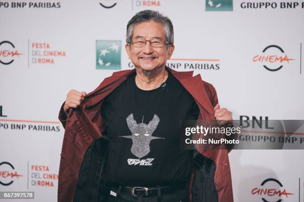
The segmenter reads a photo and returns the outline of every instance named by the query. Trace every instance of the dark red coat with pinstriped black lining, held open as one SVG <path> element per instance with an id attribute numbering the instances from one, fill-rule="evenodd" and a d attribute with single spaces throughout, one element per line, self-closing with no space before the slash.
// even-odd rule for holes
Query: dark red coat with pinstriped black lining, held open
<path id="1" fill-rule="evenodd" d="M 196 101 L 200 109 L 199 119 L 214 120 L 214 106 L 218 103 L 215 88 L 203 81 L 200 75 L 193 77 L 193 71 L 166 69 Z M 107 140 L 102 136 L 104 127 L 100 107 L 103 99 L 135 72 L 135 69 L 114 72 L 89 93 L 78 108 L 70 110 L 66 120 L 61 117 L 61 107 L 59 119 L 65 128 L 65 135 L 59 168 L 58 202 L 106 201 L 109 190 L 104 180 L 103 165 L 107 157 Z M 216 166 L 213 166 L 213 171 L 205 169 L 206 165 L 192 167 L 189 198 L 193 202 L 208 202 L 208 196 L 215 194 L 219 202 L 233 202 L 228 151 L 199 149 L 196 152 L 197 157 L 203 155 L 212 159 Z M 213 185 L 207 183 L 208 177 Z"/>

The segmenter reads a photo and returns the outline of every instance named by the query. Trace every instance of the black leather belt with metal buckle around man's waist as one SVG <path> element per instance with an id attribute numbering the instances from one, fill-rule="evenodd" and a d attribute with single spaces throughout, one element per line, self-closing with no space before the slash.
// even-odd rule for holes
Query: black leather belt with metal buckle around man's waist
<path id="1" fill-rule="evenodd" d="M 119 184 L 113 184 L 113 187 L 118 189 Z M 186 183 L 179 183 L 172 186 L 159 186 L 159 187 L 133 187 L 121 185 L 121 191 L 131 194 L 134 197 L 148 197 L 156 196 L 157 190 L 160 189 L 161 194 L 172 193 L 174 191 L 185 189 Z"/>

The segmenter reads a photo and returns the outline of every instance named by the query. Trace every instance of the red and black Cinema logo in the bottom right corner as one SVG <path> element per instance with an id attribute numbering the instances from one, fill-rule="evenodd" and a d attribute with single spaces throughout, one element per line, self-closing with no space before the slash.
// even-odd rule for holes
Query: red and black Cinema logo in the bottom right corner
<path id="1" fill-rule="evenodd" d="M 288 193 L 279 180 L 268 178 L 261 183 L 260 187 L 253 188 L 251 195 L 261 196 L 263 202 L 282 202 L 282 198 L 288 198 L 289 195 L 294 194 Z"/>

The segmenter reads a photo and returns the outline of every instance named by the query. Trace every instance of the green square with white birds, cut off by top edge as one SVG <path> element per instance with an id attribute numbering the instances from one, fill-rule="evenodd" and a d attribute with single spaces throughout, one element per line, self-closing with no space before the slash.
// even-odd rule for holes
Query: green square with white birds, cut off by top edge
<path id="1" fill-rule="evenodd" d="M 233 11 L 232 0 L 206 0 L 206 11 Z"/>

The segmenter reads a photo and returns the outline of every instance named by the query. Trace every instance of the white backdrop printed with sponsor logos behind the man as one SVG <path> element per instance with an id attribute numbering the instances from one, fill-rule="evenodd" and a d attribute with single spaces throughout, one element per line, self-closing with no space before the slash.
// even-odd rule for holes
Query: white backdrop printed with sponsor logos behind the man
<path id="1" fill-rule="evenodd" d="M 213 0 L 215 5 L 228 1 Z M 281 8 L 281 1 L 299 5 Z M 24 6 L 13 7 L 13 2 Z M 121 40 L 124 45 L 128 20 L 143 9 L 169 16 L 175 51 L 168 63 L 179 65 L 178 71 L 194 70 L 212 83 L 221 106 L 232 111 L 234 119 L 240 115 L 304 119 L 304 3 L 276 0 L 269 1 L 277 3 L 276 8 L 242 8 L 241 3 L 257 1 L 233 0 L 233 11 L 206 11 L 206 2 L 0 0 L 0 61 L 13 59 L 10 64 L 0 63 L 0 163 L 14 167 L 0 165 L 0 182 L 13 181 L 0 184 L 0 191 L 34 191 L 34 201 L 57 200 L 64 135 L 57 118 L 60 106 L 70 89 L 88 93 L 117 71 L 96 69 L 96 41 Z M 56 7 L 48 8 L 47 3 Z M 100 3 L 116 4 L 104 8 Z M 284 53 L 277 48 L 262 52 L 270 45 L 279 46 Z M 61 56 L 44 56 L 44 51 Z M 293 60 L 254 62 L 256 55 L 287 55 Z M 131 69 L 124 48 L 119 58 L 121 69 Z M 51 63 L 35 63 L 46 59 Z M 191 64 L 205 64 L 209 69 L 193 69 Z M 269 71 L 263 65 L 283 67 Z M 303 154 L 301 150 L 230 152 L 234 200 L 303 202 Z M 261 187 L 269 178 L 283 187 L 273 181 Z M 285 189 L 293 195 L 252 194 L 254 188 Z"/>

